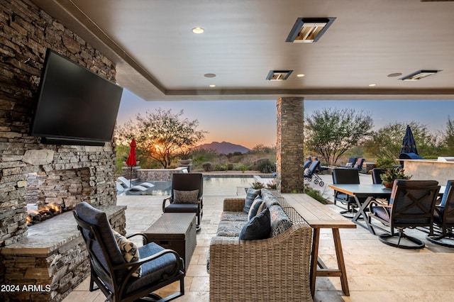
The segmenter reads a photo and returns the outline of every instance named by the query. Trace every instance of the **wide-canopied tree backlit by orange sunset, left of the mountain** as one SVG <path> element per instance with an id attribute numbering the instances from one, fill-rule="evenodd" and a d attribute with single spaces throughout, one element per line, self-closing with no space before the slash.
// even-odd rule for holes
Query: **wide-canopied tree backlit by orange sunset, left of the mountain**
<path id="1" fill-rule="evenodd" d="M 116 128 L 116 144 L 128 145 L 134 138 L 138 150 L 167 168 L 178 155 L 187 155 L 204 139 L 204 130 L 197 130 L 199 121 L 183 118 L 183 111 L 172 113 L 161 108 L 138 113 Z"/>

